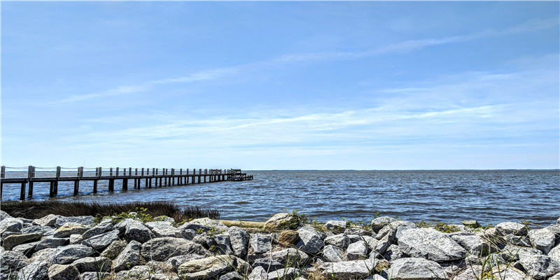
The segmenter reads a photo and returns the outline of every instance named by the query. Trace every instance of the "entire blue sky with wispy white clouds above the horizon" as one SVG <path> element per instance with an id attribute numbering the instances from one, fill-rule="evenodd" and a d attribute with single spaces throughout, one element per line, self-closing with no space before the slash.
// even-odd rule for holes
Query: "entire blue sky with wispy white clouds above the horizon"
<path id="1" fill-rule="evenodd" d="M 559 10 L 3 1 L 2 165 L 559 168 Z"/>

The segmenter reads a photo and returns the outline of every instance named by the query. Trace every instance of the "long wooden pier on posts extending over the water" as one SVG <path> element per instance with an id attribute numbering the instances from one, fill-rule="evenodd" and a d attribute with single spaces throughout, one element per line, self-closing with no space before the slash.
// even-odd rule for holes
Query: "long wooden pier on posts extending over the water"
<path id="1" fill-rule="evenodd" d="M 117 167 L 116 169 L 109 168 L 109 170 L 107 170 L 102 169 L 102 167 L 90 169 L 77 167 L 69 170 L 68 168 L 56 167 L 52 168 L 50 172 L 36 172 L 36 169 L 41 168 L 29 166 L 27 168 L 27 176 L 25 176 L 25 171 L 11 172 L 20 175 L 13 178 L 9 176 L 6 177 L 6 174 L 10 175 L 10 172 L 6 173 L 6 169 L 17 168 L 1 167 L 0 199 L 2 197 L 3 187 L 6 184 L 18 184 L 20 186 L 20 200 L 25 200 L 26 187 L 27 197 L 32 197 L 34 183 L 50 183 L 49 197 L 55 197 L 58 194 L 59 182 L 73 182 L 73 195 L 78 195 L 80 181 L 93 181 L 93 193 L 97 193 L 98 182 L 102 180 L 108 181 L 109 192 L 115 190 L 116 180 L 122 181 L 123 190 L 128 190 L 129 183 L 132 188 L 139 189 L 142 181 L 145 181 L 145 188 L 161 188 L 162 186 L 185 186 L 189 183 L 253 180 L 253 175 L 241 174 L 241 170 L 239 169 L 119 169 Z M 56 169 L 56 171 L 54 169 Z"/>

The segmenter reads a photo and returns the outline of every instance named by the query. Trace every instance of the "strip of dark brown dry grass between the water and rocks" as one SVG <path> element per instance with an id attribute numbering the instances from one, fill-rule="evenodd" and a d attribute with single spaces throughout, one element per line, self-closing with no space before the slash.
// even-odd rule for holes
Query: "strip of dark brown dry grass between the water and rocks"
<path id="1" fill-rule="evenodd" d="M 171 202 L 127 202 L 99 204 L 97 202 L 59 202 L 59 201 L 23 201 L 2 202 L 1 210 L 10 216 L 20 218 L 43 218 L 48 214 L 61 216 L 111 216 L 137 209 L 146 209 L 145 214 L 153 217 L 168 216 L 174 218 L 177 223 L 189 218 L 209 217 L 217 219 L 220 213 L 216 209 L 201 209 L 189 206 L 179 207 Z"/>

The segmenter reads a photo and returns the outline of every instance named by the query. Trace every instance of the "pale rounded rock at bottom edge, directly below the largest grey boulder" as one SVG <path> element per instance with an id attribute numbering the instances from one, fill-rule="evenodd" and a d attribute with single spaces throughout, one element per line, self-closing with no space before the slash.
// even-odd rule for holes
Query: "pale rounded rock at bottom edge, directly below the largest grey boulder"
<path id="1" fill-rule="evenodd" d="M 387 276 L 393 280 L 447 280 L 447 274 L 437 262 L 424 258 L 400 258 L 395 260 L 391 263 Z"/>

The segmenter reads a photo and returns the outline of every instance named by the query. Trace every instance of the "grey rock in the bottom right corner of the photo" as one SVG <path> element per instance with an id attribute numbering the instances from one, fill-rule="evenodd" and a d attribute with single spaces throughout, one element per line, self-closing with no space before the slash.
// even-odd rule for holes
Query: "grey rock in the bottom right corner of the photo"
<path id="1" fill-rule="evenodd" d="M 560 273 L 560 262 L 547 255 L 519 252 L 519 263 L 527 274 L 537 280 Z"/>

